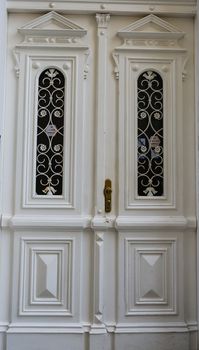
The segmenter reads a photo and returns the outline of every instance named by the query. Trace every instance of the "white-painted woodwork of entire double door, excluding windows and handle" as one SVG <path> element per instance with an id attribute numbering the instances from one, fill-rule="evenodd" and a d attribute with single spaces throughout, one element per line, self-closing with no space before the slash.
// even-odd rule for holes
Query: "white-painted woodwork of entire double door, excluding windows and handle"
<path id="1" fill-rule="evenodd" d="M 67 11 L 66 17 L 51 12 L 41 18 L 49 11 L 49 4 L 8 1 L 11 12 L 17 8 L 18 13 L 10 13 L 8 25 L 0 350 L 26 350 L 27 344 L 30 350 L 110 350 L 113 344 L 114 350 L 126 350 L 132 344 L 141 350 L 170 350 L 172 346 L 175 350 L 196 350 L 191 18 L 195 4 L 161 1 L 149 9 L 144 2 L 128 0 L 114 0 L 112 4 L 54 1 L 53 9 L 61 16 Z M 137 35 L 133 26 L 143 17 L 143 11 L 152 11 L 158 19 L 145 17 L 144 27 Z M 161 13 L 167 16 L 166 24 Z M 185 17 L 176 17 L 176 13 Z M 117 33 L 129 26 L 134 34 L 129 37 L 128 32 L 121 46 L 123 37 Z M 21 33 L 18 28 L 22 28 Z M 72 30 L 71 36 L 67 30 Z M 140 35 L 142 38 L 138 38 Z M 137 42 L 138 39 L 142 41 Z M 15 61 L 11 56 L 13 49 Z M 44 199 L 34 198 L 31 192 L 31 105 L 34 78 L 48 62 L 58 65 L 71 86 L 67 96 L 68 129 L 74 124 L 73 133 L 67 129 L 66 137 L 66 148 L 72 147 L 65 168 L 71 197 L 66 191 L 63 199 L 49 198 L 46 205 Z M 126 81 L 131 84 L 148 64 L 161 71 L 168 92 L 168 191 L 162 202 L 158 199 L 152 204 L 144 199 L 138 201 L 129 191 L 134 173 L 127 172 L 125 187 L 124 146 L 133 164 L 136 132 L 134 125 L 132 138 L 128 139 L 130 148 L 123 133 L 122 111 L 126 102 L 134 116 L 135 110 L 132 96 L 126 101 L 121 89 L 128 87 Z M 133 95 L 135 89 L 131 92 Z M 168 103 L 171 96 L 173 103 Z M 122 105 L 119 125 L 118 102 Z M 22 154 L 24 147 L 27 157 Z M 107 214 L 103 197 L 105 177 L 113 185 L 113 209 Z M 121 200 L 125 196 L 128 199 L 128 192 L 130 203 L 132 198 L 134 201 L 129 209 L 128 203 Z"/>

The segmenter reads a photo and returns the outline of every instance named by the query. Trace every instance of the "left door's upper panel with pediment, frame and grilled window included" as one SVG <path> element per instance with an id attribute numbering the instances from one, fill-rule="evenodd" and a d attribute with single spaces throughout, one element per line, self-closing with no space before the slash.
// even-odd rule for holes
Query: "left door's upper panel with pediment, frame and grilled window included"
<path id="1" fill-rule="evenodd" d="M 16 46 L 15 69 L 20 84 L 18 139 L 23 141 L 17 164 L 23 170 L 17 188 L 21 184 L 22 207 L 74 213 L 79 210 L 76 203 L 81 205 L 77 197 L 82 182 L 82 91 L 90 57 L 84 44 L 87 31 L 51 11 L 19 32 L 23 40 Z"/>

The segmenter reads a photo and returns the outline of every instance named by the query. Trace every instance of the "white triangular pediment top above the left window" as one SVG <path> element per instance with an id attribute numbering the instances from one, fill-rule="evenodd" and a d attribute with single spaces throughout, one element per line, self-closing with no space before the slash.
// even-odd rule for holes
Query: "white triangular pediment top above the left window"
<path id="1" fill-rule="evenodd" d="M 86 30 L 60 14 L 51 11 L 19 29 L 25 35 L 72 35 L 81 37 Z"/>

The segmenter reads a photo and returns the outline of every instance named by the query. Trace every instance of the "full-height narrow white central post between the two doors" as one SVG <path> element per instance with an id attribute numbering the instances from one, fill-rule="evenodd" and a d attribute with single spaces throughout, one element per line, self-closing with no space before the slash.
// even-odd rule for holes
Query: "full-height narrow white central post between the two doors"
<path id="1" fill-rule="evenodd" d="M 96 14 L 97 21 L 97 89 L 96 89 L 96 156 L 95 156 L 95 217 L 92 222 L 94 230 L 93 255 L 93 325 L 91 333 L 106 333 L 103 324 L 104 295 L 104 231 L 106 218 L 104 216 L 103 188 L 105 180 L 105 138 L 107 116 L 107 61 L 108 44 L 107 30 L 109 14 Z"/>

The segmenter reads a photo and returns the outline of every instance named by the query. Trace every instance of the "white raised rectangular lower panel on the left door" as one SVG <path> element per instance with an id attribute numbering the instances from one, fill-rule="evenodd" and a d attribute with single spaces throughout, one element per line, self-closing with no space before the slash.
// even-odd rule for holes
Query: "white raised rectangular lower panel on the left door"
<path id="1" fill-rule="evenodd" d="M 21 238 L 20 316 L 73 316 L 74 239 Z"/>

